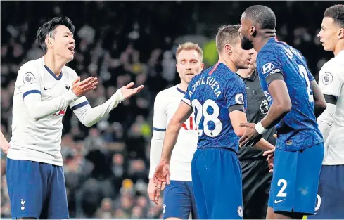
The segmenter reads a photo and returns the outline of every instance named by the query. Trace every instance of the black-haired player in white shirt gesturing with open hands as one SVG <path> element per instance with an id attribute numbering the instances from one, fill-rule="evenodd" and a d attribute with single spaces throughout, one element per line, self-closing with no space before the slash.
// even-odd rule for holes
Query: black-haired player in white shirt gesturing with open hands
<path id="1" fill-rule="evenodd" d="M 62 119 L 68 106 L 80 122 L 92 126 L 121 101 L 144 86 L 118 89 L 91 108 L 84 94 L 98 80 L 83 81 L 70 67 L 74 58 L 74 25 L 69 18 L 53 18 L 37 31 L 46 54 L 18 71 L 13 96 L 12 138 L 6 161 L 8 194 L 13 219 L 68 219 L 68 203 L 60 153 Z"/>

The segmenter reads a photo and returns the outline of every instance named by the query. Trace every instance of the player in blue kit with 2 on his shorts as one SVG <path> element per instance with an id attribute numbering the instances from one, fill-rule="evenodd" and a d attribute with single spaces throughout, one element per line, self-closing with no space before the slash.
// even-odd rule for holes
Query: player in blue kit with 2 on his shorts
<path id="1" fill-rule="evenodd" d="M 276 39 L 274 12 L 250 6 L 241 17 L 240 34 L 245 49 L 255 48 L 262 90 L 269 112 L 257 124 L 243 124 L 240 145 L 259 140 L 276 126 L 274 173 L 269 207 L 276 219 L 302 219 L 314 214 L 324 143 L 317 117 L 326 102 L 300 51 Z"/>

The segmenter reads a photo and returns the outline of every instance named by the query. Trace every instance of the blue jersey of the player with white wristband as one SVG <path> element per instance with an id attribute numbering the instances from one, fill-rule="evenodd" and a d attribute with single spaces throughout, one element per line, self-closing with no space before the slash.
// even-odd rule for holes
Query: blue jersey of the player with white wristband
<path id="1" fill-rule="evenodd" d="M 291 98 L 291 111 L 276 124 L 276 148 L 287 151 L 302 150 L 323 142 L 314 115 L 314 77 L 308 70 L 300 51 L 276 38 L 269 39 L 257 55 L 257 71 L 262 90 L 272 104 L 267 77 L 282 73 Z"/>

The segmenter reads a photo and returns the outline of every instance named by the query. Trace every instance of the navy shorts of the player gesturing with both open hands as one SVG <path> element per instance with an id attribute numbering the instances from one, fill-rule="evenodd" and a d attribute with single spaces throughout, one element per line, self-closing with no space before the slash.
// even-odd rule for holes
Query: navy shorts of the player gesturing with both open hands
<path id="1" fill-rule="evenodd" d="M 29 160 L 6 161 L 12 219 L 68 219 L 63 167 Z"/>

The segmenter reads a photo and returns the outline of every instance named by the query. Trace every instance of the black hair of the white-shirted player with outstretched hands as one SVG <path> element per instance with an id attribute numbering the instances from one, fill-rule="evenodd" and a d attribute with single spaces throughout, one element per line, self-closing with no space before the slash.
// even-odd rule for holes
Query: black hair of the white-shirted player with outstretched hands
<path id="1" fill-rule="evenodd" d="M 55 29 L 59 25 L 65 25 L 66 27 L 68 27 L 70 32 L 74 34 L 75 27 L 68 17 L 56 17 L 45 22 L 41 27 L 39 27 L 36 34 L 36 41 L 39 45 L 41 45 L 44 51 L 46 51 L 46 36 L 49 35 L 49 37 L 54 38 Z"/>

